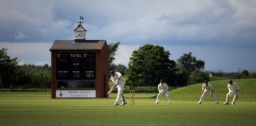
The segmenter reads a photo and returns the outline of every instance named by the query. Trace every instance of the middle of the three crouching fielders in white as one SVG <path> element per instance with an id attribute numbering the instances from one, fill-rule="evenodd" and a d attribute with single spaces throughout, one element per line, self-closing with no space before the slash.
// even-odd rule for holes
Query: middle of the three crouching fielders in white
<path id="1" fill-rule="evenodd" d="M 203 94 L 201 95 L 201 98 L 200 98 L 198 104 L 201 104 L 201 102 L 202 102 L 202 101 L 204 100 L 204 98 L 205 98 L 205 95 L 207 95 L 208 92 L 210 92 L 210 95 L 214 98 L 215 103 L 216 103 L 216 104 L 219 104 L 219 102 L 218 102 L 217 99 L 216 99 L 216 96 L 215 96 L 214 93 L 213 93 L 214 88 L 213 88 L 213 86 L 212 86 L 211 83 L 208 83 L 208 80 L 205 80 L 205 84 L 202 85 L 201 90 L 202 90 Z"/>

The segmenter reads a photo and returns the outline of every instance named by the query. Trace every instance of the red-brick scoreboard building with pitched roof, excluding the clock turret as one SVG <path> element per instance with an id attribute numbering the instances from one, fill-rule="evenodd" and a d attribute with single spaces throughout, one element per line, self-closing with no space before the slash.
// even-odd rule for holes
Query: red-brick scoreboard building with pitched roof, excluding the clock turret
<path id="1" fill-rule="evenodd" d="M 51 98 L 107 98 L 105 40 L 55 40 L 51 46 Z"/>

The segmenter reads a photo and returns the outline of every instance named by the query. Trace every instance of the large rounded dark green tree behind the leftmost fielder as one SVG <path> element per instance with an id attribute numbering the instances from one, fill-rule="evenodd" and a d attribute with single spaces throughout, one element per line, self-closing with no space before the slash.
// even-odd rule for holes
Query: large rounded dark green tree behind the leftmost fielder
<path id="1" fill-rule="evenodd" d="M 169 59 L 169 51 L 162 46 L 145 44 L 135 50 L 127 69 L 127 85 L 156 85 L 160 79 L 168 83 L 175 73 L 175 61 Z"/>

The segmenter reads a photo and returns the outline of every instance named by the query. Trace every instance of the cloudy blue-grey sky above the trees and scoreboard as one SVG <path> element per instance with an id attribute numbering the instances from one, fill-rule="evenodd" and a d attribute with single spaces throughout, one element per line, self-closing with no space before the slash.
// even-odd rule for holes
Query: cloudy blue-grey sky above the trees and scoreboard
<path id="1" fill-rule="evenodd" d="M 51 45 L 74 39 L 82 16 L 86 39 L 120 42 L 115 64 L 152 44 L 206 70 L 256 71 L 255 12 L 256 0 L 0 0 L 0 48 L 20 65 L 51 65 Z"/>

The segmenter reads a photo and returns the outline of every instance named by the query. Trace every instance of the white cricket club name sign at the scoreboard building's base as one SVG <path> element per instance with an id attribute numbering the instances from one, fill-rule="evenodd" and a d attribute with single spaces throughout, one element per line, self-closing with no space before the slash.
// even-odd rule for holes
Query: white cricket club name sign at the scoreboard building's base
<path id="1" fill-rule="evenodd" d="M 96 90 L 56 90 L 56 98 L 96 98 Z"/>

